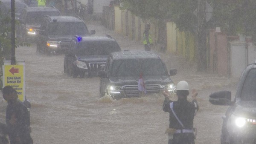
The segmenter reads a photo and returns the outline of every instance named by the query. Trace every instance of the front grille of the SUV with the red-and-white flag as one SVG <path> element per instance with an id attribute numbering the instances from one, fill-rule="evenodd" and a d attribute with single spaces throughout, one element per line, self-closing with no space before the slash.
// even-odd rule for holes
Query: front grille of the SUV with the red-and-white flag
<path id="1" fill-rule="evenodd" d="M 147 94 L 160 92 L 160 85 L 158 85 L 158 84 L 145 85 L 145 87 L 146 87 Z M 124 89 L 125 95 L 127 97 L 140 96 L 140 91 L 138 90 L 138 85 L 122 86 L 121 89 Z"/>

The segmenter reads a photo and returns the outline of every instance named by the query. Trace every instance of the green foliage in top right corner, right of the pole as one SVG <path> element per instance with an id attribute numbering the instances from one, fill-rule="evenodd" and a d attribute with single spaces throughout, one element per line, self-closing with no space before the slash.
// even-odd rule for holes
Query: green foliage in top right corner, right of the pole
<path id="1" fill-rule="evenodd" d="M 214 20 L 228 35 L 244 34 L 255 38 L 255 8 L 255 0 L 216 0 Z"/>

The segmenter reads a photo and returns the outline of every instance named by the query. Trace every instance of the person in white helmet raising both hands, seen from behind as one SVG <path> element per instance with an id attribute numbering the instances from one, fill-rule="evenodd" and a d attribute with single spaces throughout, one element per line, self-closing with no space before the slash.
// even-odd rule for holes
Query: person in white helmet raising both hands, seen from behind
<path id="1" fill-rule="evenodd" d="M 169 112 L 169 141 L 168 144 L 195 144 L 193 121 L 198 104 L 196 101 L 197 92 L 192 90 L 192 102 L 187 101 L 189 95 L 189 85 L 186 81 L 177 84 L 177 101 L 169 100 L 169 92 L 163 92 L 165 100 L 163 111 Z"/>

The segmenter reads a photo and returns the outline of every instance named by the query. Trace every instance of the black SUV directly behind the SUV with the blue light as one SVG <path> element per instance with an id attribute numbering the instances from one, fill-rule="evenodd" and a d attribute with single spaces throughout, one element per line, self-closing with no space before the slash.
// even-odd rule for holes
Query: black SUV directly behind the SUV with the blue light
<path id="1" fill-rule="evenodd" d="M 44 17 L 37 37 L 37 51 L 46 54 L 65 52 L 70 46 L 74 35 L 79 37 L 95 34 L 95 30 L 90 32 L 84 21 L 80 17 L 58 16 Z"/>

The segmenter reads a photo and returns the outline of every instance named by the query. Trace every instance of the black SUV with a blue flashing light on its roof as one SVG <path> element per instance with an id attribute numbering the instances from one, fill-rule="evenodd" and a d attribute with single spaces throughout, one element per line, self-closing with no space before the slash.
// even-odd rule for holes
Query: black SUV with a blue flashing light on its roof
<path id="1" fill-rule="evenodd" d="M 97 74 L 105 68 L 108 55 L 121 51 L 118 43 L 111 36 L 74 37 L 64 57 L 64 72 L 77 78 Z"/>

